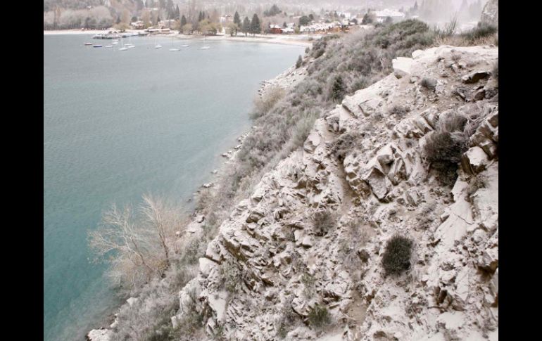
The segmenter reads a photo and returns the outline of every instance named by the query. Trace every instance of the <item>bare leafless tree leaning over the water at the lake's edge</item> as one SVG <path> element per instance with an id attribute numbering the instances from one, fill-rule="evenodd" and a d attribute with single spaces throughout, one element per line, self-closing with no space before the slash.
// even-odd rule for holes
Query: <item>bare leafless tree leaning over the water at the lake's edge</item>
<path id="1" fill-rule="evenodd" d="M 95 260 L 111 263 L 109 275 L 128 290 L 138 290 L 168 269 L 170 244 L 181 224 L 175 207 L 151 195 L 144 195 L 138 208 L 119 210 L 113 205 L 103 214 L 98 229 L 89 231 Z"/>

